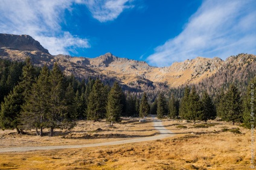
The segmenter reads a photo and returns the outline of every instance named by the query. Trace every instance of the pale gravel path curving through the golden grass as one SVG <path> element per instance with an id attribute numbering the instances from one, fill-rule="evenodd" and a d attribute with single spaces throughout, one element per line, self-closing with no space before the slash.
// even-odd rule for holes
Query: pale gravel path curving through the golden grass
<path id="1" fill-rule="evenodd" d="M 174 134 L 171 131 L 167 130 L 162 122 L 154 118 L 154 125 L 156 130 L 160 134 L 150 137 L 139 137 L 127 140 L 118 140 L 113 142 L 103 142 L 103 143 L 92 143 L 85 145 L 60 145 L 60 146 L 27 146 L 27 147 L 15 147 L 15 148 L 1 148 L 0 153 L 9 153 L 9 152 L 26 152 L 26 151 L 35 151 L 35 150 L 60 150 L 60 149 L 71 149 L 71 148 L 89 148 L 96 146 L 108 146 L 108 145 L 121 145 L 126 143 L 136 143 L 136 142 L 145 142 L 150 140 L 164 139 L 165 137 L 171 137 Z"/>

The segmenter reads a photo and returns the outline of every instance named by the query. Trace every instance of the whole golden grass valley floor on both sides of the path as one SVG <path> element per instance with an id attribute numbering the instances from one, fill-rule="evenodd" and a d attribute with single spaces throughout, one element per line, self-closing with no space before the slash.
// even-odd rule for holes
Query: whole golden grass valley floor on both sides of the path
<path id="1" fill-rule="evenodd" d="M 106 122 L 93 124 L 78 122 L 74 130 L 58 131 L 54 137 L 1 131 L 0 147 L 99 143 L 158 134 L 152 121 L 127 119 L 111 129 Z M 251 169 L 250 130 L 217 121 L 193 125 L 164 119 L 162 124 L 176 135 L 114 146 L 0 153 L 0 169 Z"/>

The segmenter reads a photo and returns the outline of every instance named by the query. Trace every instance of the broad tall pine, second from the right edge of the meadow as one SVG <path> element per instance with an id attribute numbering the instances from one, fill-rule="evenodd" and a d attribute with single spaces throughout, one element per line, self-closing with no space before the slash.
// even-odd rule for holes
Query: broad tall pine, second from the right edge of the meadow
<path id="1" fill-rule="evenodd" d="M 242 99 L 240 98 L 240 92 L 234 84 L 229 86 L 226 97 L 226 116 L 223 118 L 224 121 L 231 121 L 234 125 L 235 122 L 242 121 Z"/>

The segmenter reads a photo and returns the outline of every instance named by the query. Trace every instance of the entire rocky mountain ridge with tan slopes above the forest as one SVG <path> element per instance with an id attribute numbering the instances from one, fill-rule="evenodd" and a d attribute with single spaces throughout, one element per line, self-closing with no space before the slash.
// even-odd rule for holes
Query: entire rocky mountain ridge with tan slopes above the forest
<path id="1" fill-rule="evenodd" d="M 155 87 L 159 84 L 168 87 L 197 84 L 231 66 L 238 71 L 245 69 L 248 65 L 256 68 L 256 56 L 247 54 L 232 56 L 226 61 L 218 57 L 197 57 L 193 60 L 175 62 L 164 68 L 149 66 L 144 61 L 116 57 L 109 52 L 96 58 L 54 56 L 32 37 L 10 34 L 0 34 L 0 57 L 18 61 L 31 57 L 35 65 L 47 64 L 50 68 L 54 62 L 58 62 L 66 75 L 73 74 L 79 78 L 100 77 L 107 82 L 119 81 L 136 89 L 142 86 Z"/>

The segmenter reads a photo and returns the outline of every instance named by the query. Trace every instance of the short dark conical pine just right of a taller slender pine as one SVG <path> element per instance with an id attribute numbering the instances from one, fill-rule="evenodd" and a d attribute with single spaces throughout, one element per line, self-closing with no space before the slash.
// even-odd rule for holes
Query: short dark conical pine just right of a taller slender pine
<path id="1" fill-rule="evenodd" d="M 202 97 L 202 114 L 199 116 L 200 121 L 207 121 L 216 118 L 216 110 L 212 99 L 206 91 L 203 92 Z"/>

